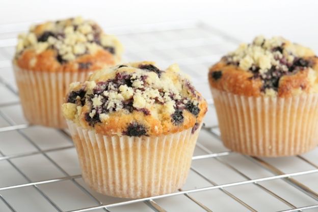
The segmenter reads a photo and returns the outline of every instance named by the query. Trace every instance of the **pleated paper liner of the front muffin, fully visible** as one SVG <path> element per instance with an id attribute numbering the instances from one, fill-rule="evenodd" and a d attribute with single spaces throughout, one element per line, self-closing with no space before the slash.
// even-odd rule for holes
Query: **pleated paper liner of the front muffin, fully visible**
<path id="1" fill-rule="evenodd" d="M 166 136 L 103 136 L 67 121 L 84 181 L 114 197 L 172 193 L 186 182 L 200 127 Z"/>

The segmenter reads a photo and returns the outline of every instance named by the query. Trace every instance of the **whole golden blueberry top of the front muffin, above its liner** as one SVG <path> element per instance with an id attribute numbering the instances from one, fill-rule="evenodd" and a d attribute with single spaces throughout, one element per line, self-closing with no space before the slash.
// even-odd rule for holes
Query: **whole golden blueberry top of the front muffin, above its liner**
<path id="1" fill-rule="evenodd" d="M 66 119 L 103 135 L 160 136 L 198 128 L 207 104 L 174 64 L 128 63 L 72 83 Z"/>

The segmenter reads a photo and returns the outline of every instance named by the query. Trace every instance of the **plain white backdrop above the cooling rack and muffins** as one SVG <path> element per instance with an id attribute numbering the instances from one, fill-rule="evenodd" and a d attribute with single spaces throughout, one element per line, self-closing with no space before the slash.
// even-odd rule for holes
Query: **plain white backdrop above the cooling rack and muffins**
<path id="1" fill-rule="evenodd" d="M 318 51 L 318 1 L 1 0 L 0 24 L 82 15 L 106 26 L 203 20 L 243 41 L 281 35 Z"/>

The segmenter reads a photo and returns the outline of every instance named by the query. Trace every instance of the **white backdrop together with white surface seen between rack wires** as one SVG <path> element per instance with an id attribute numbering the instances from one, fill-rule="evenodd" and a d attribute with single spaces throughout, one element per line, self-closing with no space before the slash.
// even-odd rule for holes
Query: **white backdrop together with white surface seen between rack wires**
<path id="1" fill-rule="evenodd" d="M 271 0 L 256 2 L 241 0 L 212 2 L 197 0 L 195 2 L 186 2 L 186 0 L 184 0 L 165 2 L 164 0 L 78 0 L 76 2 L 71 2 L 67 0 L 0 0 L 0 3 L 0 33 L 3 29 L 8 29 L 8 26 L 10 28 L 10 24 L 15 25 L 15 23 L 24 22 L 26 25 L 29 25 L 29 23 L 34 21 L 77 15 L 94 19 L 102 26 L 106 26 L 106 28 L 107 26 L 123 26 L 177 20 L 202 20 L 211 26 L 214 26 L 214 28 L 220 29 L 242 41 L 248 42 L 258 34 L 266 36 L 282 35 L 295 42 L 310 46 L 318 52 L 318 42 L 316 39 L 318 38 L 318 29 L 316 27 L 316 9 L 318 3 L 315 3 L 314 1 Z M 3 24 L 5 24 L 5 27 L 2 27 L 4 26 Z M 107 29 L 105 29 L 105 31 L 107 32 Z M 155 32 L 152 32 L 140 36 L 130 36 L 131 34 L 128 34 L 121 35 L 119 38 L 123 43 L 130 44 L 125 45 L 125 56 L 129 59 L 150 59 L 151 57 L 154 57 L 154 60 L 157 62 L 158 59 L 165 62 L 170 62 L 172 60 L 181 61 L 178 63 L 184 70 L 189 71 L 189 74 L 192 73 L 192 76 L 197 75 L 196 88 L 202 92 L 206 98 L 211 98 L 206 79 L 207 67 L 211 65 L 211 63 L 216 62 L 230 47 L 225 45 L 225 39 L 222 39 L 217 35 L 208 34 L 207 32 L 205 32 L 206 34 L 198 34 L 197 32 L 203 33 L 204 31 L 199 31 L 198 29 L 185 29 L 184 31 L 179 30 L 178 33 L 169 31 L 156 34 Z M 9 35 L 11 36 L 11 34 Z M 207 35 L 209 37 L 207 37 Z M 14 35 L 14 37 L 15 36 L 16 35 Z M 182 39 L 183 41 L 188 42 L 196 41 L 197 37 L 203 39 L 204 42 L 194 43 L 194 45 L 188 45 L 189 43 L 187 43 L 186 46 L 184 46 L 184 43 L 178 42 L 182 41 Z M 13 40 L 11 37 L 5 39 L 0 38 L 0 41 L 2 41 L 0 44 L 5 46 L 2 47 L 0 51 L 0 67 L 2 67 L 0 68 L 0 78 L 3 78 L 4 82 L 8 82 L 11 86 L 14 86 L 14 77 L 10 67 L 10 60 L 12 57 L 11 55 L 14 54 L 14 48 L 11 45 L 13 42 L 9 44 L 7 42 Z M 162 45 L 162 43 L 176 45 L 172 47 L 164 45 L 163 48 L 158 48 L 158 45 Z M 8 47 L 6 47 L 7 45 Z M 233 45 L 231 45 L 231 47 L 232 46 Z M 164 50 L 168 51 L 168 49 L 169 54 L 163 54 L 165 53 Z M 191 61 L 190 59 L 194 60 Z M 199 70 L 201 70 L 201 72 Z M 26 124 L 20 105 L 18 103 L 12 105 L 12 102 L 18 101 L 18 97 L 13 95 L 12 92 L 1 83 L 0 93 L 2 95 L 2 98 L 0 98 L 0 105 L 8 104 L 7 107 L 0 108 L 0 113 L 9 117 L 12 120 L 11 124 L 13 125 Z M 217 124 L 214 110 L 209 110 L 205 123 L 206 126 L 214 126 Z M 0 128 L 8 126 L 9 123 L 0 116 Z M 63 137 L 59 131 L 54 129 L 33 126 L 22 129 L 21 131 L 23 132 L 23 135 L 26 135 L 27 137 L 22 137 L 16 130 L 2 133 L 0 135 L 0 150 L 6 155 L 37 151 L 26 138 L 32 140 L 39 146 L 39 149 L 43 151 L 70 145 L 70 140 Z M 210 151 L 213 150 L 213 152 L 227 151 L 220 141 L 204 130 L 200 133 L 198 143 Z M 194 154 L 198 156 L 206 153 L 207 152 L 197 147 Z M 55 161 L 62 169 L 66 170 L 65 172 L 67 172 L 68 175 L 80 174 L 80 168 L 78 167 L 77 155 L 74 148 L 62 151 L 52 151 L 49 152 L 48 155 L 52 161 Z M 0 154 L 0 156 L 2 155 Z M 307 158 L 307 160 L 316 163 L 318 161 L 318 148 L 315 148 L 313 151 L 306 153 L 303 156 L 304 158 Z M 242 155 L 230 154 L 220 158 L 223 162 L 230 164 L 252 179 L 273 176 L 272 173 L 252 163 Z M 18 169 L 21 169 L 31 181 L 41 181 L 65 176 L 56 165 L 52 164 L 42 154 L 14 158 L 11 161 Z M 295 173 L 315 169 L 315 167 L 310 166 L 298 157 L 268 158 L 266 161 L 285 173 Z M 224 165 L 224 163 L 216 161 L 214 158 L 194 161 L 193 167 L 205 175 L 207 179 L 213 180 L 217 184 L 226 184 L 247 179 Z M 0 188 L 28 182 L 28 180 L 24 179 L 12 165 L 4 160 L 0 163 L 0 173 Z M 304 183 L 305 186 L 317 192 L 317 177 L 318 174 L 316 173 L 295 178 Z M 77 179 L 76 181 L 83 187 L 86 187 L 82 179 Z M 297 207 L 317 204 L 315 200 L 306 196 L 283 180 L 264 181 L 259 184 L 287 201 L 292 202 Z M 190 190 L 207 186 L 211 186 L 211 183 L 204 180 L 202 177 L 199 177 L 194 171 L 191 171 L 187 184 L 183 189 Z M 70 180 L 57 183 L 45 183 L 40 185 L 39 188 L 64 211 L 96 205 L 95 201 L 81 189 L 76 187 Z M 245 186 L 229 187 L 226 191 L 242 199 L 242 201 L 257 209 L 257 211 L 267 212 L 289 208 L 287 205 L 283 204 L 269 193 L 259 189 L 259 187 L 252 183 L 246 184 Z M 103 204 L 125 201 L 125 199 L 115 199 L 98 195 L 94 191 L 90 192 Z M 11 189 L 1 191 L 0 193 L 6 201 L 12 204 L 19 212 L 50 212 L 53 210 L 48 201 L 43 199 L 40 193 L 33 187 Z M 241 204 L 219 190 L 198 192 L 191 195 L 213 211 L 246 211 L 246 208 Z M 156 202 L 167 211 L 199 211 L 199 209 L 201 209 L 183 195 L 163 198 L 156 200 Z M 149 210 L 150 209 L 144 203 L 111 208 L 112 212 L 143 212 Z M 4 205 L 2 200 L 0 200 L 0 211 L 8 211 L 7 206 Z M 307 211 L 314 212 L 317 211 L 317 208 Z"/>

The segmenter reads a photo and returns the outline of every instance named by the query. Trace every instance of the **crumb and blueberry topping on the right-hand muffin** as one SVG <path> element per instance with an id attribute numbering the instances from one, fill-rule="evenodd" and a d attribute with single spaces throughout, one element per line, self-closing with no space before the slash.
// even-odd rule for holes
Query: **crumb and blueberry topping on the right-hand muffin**
<path id="1" fill-rule="evenodd" d="M 241 44 L 235 51 L 223 57 L 228 65 L 235 65 L 253 73 L 263 83 L 261 92 L 270 95 L 278 90 L 279 80 L 284 75 L 296 74 L 312 64 L 307 57 L 314 53 L 306 47 L 290 43 L 282 37 L 266 39 L 256 37 L 251 44 Z M 211 72 L 214 80 L 222 77 L 222 72 Z"/>

